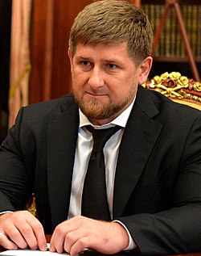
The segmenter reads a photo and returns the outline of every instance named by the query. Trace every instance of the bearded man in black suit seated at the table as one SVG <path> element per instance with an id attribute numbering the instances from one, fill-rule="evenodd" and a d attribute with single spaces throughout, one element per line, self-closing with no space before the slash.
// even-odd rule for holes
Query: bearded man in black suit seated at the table
<path id="1" fill-rule="evenodd" d="M 151 47 L 146 15 L 127 2 L 80 12 L 68 50 L 73 94 L 23 107 L 2 143 L 0 245 L 46 250 L 52 233 L 51 251 L 72 255 L 201 250 L 201 112 L 140 86 Z M 82 216 L 88 125 L 121 127 L 104 148 L 113 221 Z M 32 192 L 39 220 L 20 211 Z"/>

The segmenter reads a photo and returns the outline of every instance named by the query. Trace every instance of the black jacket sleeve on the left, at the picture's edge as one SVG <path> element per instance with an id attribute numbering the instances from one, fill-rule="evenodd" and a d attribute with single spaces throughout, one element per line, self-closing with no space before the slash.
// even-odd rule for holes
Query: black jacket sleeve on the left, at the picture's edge
<path id="1" fill-rule="evenodd" d="M 20 146 L 23 108 L 0 147 L 0 212 L 22 209 L 31 196 L 30 177 Z"/>

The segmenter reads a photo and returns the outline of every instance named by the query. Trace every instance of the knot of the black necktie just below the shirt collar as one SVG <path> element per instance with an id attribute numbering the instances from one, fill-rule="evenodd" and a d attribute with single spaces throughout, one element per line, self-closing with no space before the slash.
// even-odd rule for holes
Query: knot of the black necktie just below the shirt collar
<path id="1" fill-rule="evenodd" d="M 103 148 L 105 147 L 105 143 L 109 140 L 109 138 L 113 136 L 113 134 L 119 129 L 121 129 L 121 127 L 118 125 L 107 129 L 94 129 L 91 125 L 86 126 L 86 128 L 89 132 L 92 132 L 93 152 L 102 152 Z"/>

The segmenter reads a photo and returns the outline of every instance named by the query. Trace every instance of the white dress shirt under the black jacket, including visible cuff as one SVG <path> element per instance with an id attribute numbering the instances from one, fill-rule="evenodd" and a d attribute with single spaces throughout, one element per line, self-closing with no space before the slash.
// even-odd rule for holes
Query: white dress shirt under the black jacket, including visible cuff
<path id="1" fill-rule="evenodd" d="M 134 100 L 133 100 L 133 103 L 134 103 Z M 105 148 L 104 148 L 105 178 L 106 178 L 107 195 L 108 195 L 108 201 L 109 201 L 109 212 L 110 212 L 111 218 L 113 219 L 113 186 L 114 186 L 115 171 L 117 166 L 117 157 L 119 153 L 121 138 L 124 132 L 125 125 L 129 119 L 129 114 L 133 107 L 133 103 L 131 103 L 129 107 L 127 107 L 125 111 L 121 113 L 121 115 L 117 116 L 115 120 L 113 120 L 109 124 L 104 124 L 101 126 L 93 125 L 88 120 L 88 118 L 82 113 L 82 111 L 79 111 L 80 125 L 79 125 L 78 137 L 76 142 L 76 155 L 75 155 L 75 162 L 74 162 L 73 174 L 72 174 L 72 191 L 71 191 L 68 219 L 72 218 L 73 216 L 81 215 L 81 200 L 82 200 L 82 191 L 84 187 L 84 178 L 87 172 L 88 161 L 92 153 L 92 145 L 93 145 L 92 134 L 91 132 L 88 132 L 85 126 L 92 125 L 93 128 L 102 129 L 102 128 L 110 128 L 115 125 L 119 125 L 122 127 L 122 129 L 120 129 L 113 136 L 110 137 L 109 141 L 106 142 Z M 123 224 L 121 223 L 121 225 Z M 123 226 L 125 227 L 125 225 Z M 129 233 L 128 229 L 126 229 L 126 231 Z M 132 237 L 129 234 L 129 247 L 126 248 L 126 250 L 132 250 L 133 248 L 134 248 L 134 242 Z"/>

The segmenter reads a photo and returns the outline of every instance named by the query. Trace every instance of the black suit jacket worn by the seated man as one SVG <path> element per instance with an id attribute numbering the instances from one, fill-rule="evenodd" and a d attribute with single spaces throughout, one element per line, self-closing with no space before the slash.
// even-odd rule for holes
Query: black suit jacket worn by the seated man
<path id="1" fill-rule="evenodd" d="M 67 219 L 79 126 L 72 94 L 23 107 L 0 150 L 0 211 L 34 191 L 46 233 Z M 201 251 L 201 111 L 142 86 L 121 141 L 113 219 L 142 254 Z"/>

